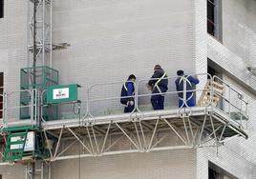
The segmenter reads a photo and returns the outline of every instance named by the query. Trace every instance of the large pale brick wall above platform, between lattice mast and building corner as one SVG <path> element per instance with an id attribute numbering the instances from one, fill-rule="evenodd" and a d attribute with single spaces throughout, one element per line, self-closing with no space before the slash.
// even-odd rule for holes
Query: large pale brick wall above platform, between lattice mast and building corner
<path id="1" fill-rule="evenodd" d="M 67 42 L 71 47 L 53 51 L 53 68 L 60 71 L 61 83 L 78 83 L 85 89 L 95 83 L 124 81 L 131 73 L 139 80 L 149 78 L 156 64 L 169 76 L 180 69 L 195 73 L 193 7 L 194 1 L 189 0 L 56 0 L 53 43 Z M 140 92 L 148 92 L 144 84 Z M 118 97 L 121 85 L 98 88 L 94 97 Z M 175 89 L 174 79 L 169 88 Z M 169 98 L 176 106 L 177 94 Z M 118 101 L 109 106 L 122 109 Z M 102 104 L 93 108 L 103 108 Z"/>

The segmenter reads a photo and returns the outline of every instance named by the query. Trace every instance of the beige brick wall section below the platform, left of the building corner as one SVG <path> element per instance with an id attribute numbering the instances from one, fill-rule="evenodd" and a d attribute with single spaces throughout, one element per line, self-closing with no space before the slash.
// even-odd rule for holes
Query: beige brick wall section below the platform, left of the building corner
<path id="1" fill-rule="evenodd" d="M 68 179 L 194 179 L 196 155 L 193 149 L 154 151 L 57 161 L 52 178 Z"/>

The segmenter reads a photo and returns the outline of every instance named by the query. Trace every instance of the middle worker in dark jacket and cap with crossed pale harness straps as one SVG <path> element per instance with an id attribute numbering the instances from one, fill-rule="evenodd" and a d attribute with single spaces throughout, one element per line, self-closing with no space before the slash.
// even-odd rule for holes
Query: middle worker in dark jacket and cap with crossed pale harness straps
<path id="1" fill-rule="evenodd" d="M 154 74 L 147 85 L 152 90 L 151 104 L 153 109 L 164 109 L 164 92 L 168 89 L 168 79 L 160 65 L 155 66 Z"/>

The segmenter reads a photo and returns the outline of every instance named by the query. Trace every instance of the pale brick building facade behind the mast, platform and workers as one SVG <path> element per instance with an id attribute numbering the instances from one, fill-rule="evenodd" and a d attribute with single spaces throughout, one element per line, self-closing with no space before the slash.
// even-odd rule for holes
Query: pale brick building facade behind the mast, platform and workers
<path id="1" fill-rule="evenodd" d="M 20 69 L 28 67 L 28 2 L 3 2 L 0 72 L 4 91 L 15 91 L 20 89 Z M 248 138 L 233 136 L 218 147 L 120 152 L 96 157 L 83 157 L 79 152 L 75 158 L 52 161 L 52 178 L 256 178 L 255 19 L 255 0 L 53 1 L 53 44 L 69 46 L 53 50 L 51 65 L 59 71 L 59 84 L 82 86 L 78 94 L 82 102 L 87 100 L 92 85 L 123 82 L 131 73 L 143 81 L 151 77 L 156 64 L 170 77 L 170 91 L 176 90 L 177 70 L 198 74 L 201 83 L 197 89 L 204 88 L 205 73 L 210 73 L 243 93 L 248 102 L 248 120 L 243 121 Z M 38 61 L 37 65 L 41 63 Z M 91 95 L 117 97 L 121 84 L 98 85 Z M 148 93 L 143 82 L 138 90 Z M 139 105 L 147 109 L 149 97 L 142 98 Z M 200 99 L 200 94 L 197 98 Z M 231 98 L 237 96 L 231 94 Z M 96 116 L 115 113 L 123 108 L 118 100 L 92 103 L 91 112 Z M 166 109 L 176 107 L 177 100 L 176 93 L 166 95 Z M 224 111 L 225 103 L 220 107 Z M 81 111 L 86 107 L 82 103 Z M 60 110 L 61 119 L 72 112 L 69 107 Z M 4 179 L 25 178 L 26 166 L 3 165 L 0 174 Z"/>

